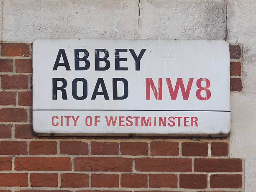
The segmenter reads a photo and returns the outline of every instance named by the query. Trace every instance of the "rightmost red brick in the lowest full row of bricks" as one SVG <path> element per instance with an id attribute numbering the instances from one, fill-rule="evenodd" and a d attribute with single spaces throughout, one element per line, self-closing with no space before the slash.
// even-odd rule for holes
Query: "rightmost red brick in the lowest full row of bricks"
<path id="1" fill-rule="evenodd" d="M 242 187 L 242 175 L 211 175 L 211 188 L 240 188 Z"/>

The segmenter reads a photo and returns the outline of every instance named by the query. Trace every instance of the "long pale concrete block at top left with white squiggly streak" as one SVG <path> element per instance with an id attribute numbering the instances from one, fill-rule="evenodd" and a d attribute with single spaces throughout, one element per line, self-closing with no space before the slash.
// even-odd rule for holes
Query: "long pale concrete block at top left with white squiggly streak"
<path id="1" fill-rule="evenodd" d="M 3 41 L 138 38 L 138 0 L 4 0 L 3 6 Z"/>

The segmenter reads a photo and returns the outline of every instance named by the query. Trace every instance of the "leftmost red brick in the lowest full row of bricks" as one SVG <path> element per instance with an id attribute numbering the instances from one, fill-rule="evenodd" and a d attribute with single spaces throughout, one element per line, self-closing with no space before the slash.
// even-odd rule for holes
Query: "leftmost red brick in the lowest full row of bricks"
<path id="1" fill-rule="evenodd" d="M 0 186 L 26 187 L 28 186 L 28 174 L 27 173 L 0 173 Z"/>

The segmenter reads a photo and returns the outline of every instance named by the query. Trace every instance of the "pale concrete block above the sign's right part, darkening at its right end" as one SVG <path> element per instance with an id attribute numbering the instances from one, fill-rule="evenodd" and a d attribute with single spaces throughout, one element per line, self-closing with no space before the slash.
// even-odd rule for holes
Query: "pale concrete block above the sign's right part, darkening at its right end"
<path id="1" fill-rule="evenodd" d="M 140 38 L 225 39 L 226 0 L 140 0 Z"/>

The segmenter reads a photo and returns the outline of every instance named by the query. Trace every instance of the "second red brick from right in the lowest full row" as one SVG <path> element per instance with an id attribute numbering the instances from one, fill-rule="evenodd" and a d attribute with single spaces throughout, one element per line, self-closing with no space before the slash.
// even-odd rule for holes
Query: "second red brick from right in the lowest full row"
<path id="1" fill-rule="evenodd" d="M 207 188 L 206 174 L 180 174 L 179 187 L 186 189 L 204 189 Z"/>

